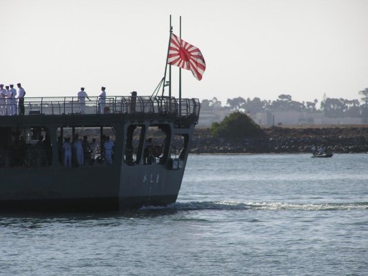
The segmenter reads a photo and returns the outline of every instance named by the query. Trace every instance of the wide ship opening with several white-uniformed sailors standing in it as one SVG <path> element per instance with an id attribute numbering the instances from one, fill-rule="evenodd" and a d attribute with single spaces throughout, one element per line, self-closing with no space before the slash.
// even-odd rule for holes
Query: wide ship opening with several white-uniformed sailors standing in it
<path id="1" fill-rule="evenodd" d="M 114 128 L 101 126 L 61 127 L 57 130 L 59 162 L 65 167 L 108 166 L 114 159 Z M 108 150 L 105 148 L 108 147 Z M 111 149 L 110 149 L 111 148 Z"/>

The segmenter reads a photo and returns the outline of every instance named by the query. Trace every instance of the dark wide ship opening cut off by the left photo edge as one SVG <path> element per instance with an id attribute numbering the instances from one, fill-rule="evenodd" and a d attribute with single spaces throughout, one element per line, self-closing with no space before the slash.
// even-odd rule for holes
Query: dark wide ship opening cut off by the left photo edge
<path id="1" fill-rule="evenodd" d="M 37 168 L 52 163 L 48 128 L 0 128 L 0 144 L 0 167 Z"/>

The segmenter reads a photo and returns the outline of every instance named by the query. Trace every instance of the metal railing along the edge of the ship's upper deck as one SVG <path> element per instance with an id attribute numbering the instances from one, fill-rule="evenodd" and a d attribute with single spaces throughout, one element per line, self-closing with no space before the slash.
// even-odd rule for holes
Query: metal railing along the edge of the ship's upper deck
<path id="1" fill-rule="evenodd" d="M 24 115 L 108 115 L 108 114 L 170 114 L 178 117 L 194 116 L 198 120 L 200 103 L 198 99 L 176 99 L 159 96 L 111 96 L 85 98 L 85 105 L 79 97 L 39 97 L 24 99 Z M 104 103 L 103 103 L 104 102 Z M 15 106 L 15 107 L 14 107 Z M 12 106 L 19 114 L 18 103 Z M 10 115 L 10 104 L 1 105 L 1 115 Z"/>

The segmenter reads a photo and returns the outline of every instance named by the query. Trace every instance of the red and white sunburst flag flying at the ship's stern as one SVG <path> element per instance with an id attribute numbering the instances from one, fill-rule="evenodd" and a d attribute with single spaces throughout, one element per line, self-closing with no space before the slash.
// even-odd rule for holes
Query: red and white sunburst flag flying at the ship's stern
<path id="1" fill-rule="evenodd" d="M 175 34 L 171 34 L 169 57 L 167 64 L 178 66 L 183 69 L 191 70 L 194 77 L 201 81 L 203 73 L 206 69 L 205 59 L 201 51 L 176 37 Z"/>

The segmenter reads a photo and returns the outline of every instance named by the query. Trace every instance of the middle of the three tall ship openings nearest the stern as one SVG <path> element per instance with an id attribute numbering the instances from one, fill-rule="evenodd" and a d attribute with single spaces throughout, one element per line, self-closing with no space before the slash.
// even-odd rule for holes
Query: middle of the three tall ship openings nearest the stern
<path id="1" fill-rule="evenodd" d="M 170 128 L 167 125 L 150 126 L 147 130 L 143 164 L 165 164 L 167 149 L 170 145 Z"/>

